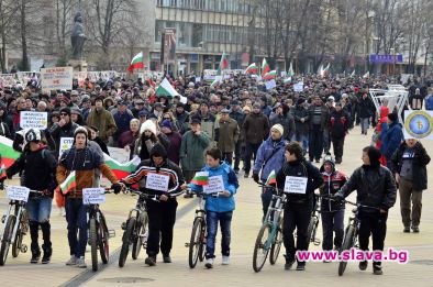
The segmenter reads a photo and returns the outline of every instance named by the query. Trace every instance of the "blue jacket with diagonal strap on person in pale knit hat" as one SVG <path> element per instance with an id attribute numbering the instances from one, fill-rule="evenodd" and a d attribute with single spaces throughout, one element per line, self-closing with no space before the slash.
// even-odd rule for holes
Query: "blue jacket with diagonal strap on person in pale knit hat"
<path id="1" fill-rule="evenodd" d="M 256 162 L 254 163 L 253 167 L 253 174 L 258 174 L 262 169 L 262 181 L 266 181 L 273 170 L 275 170 L 275 173 L 278 173 L 278 170 L 284 165 L 286 143 L 287 142 L 281 137 L 281 140 L 277 142 L 274 146 L 273 139 L 269 136 L 258 147 Z M 275 153 L 274 150 L 276 151 Z M 264 164 L 265 166 L 263 166 Z"/>

